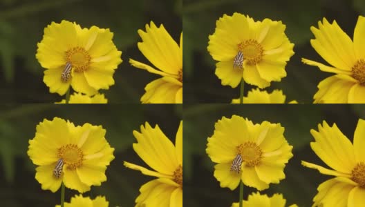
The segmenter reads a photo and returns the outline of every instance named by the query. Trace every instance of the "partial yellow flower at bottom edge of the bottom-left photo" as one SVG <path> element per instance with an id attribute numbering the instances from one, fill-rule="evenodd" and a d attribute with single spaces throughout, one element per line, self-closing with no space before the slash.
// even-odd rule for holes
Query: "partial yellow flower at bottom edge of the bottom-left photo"
<path id="1" fill-rule="evenodd" d="M 76 195 L 71 198 L 71 203 L 64 204 L 65 207 L 108 207 L 109 202 L 106 201 L 104 196 L 95 197 L 95 199 L 90 199 L 90 197 L 82 197 L 82 195 Z M 60 207 L 60 205 L 56 205 Z"/>

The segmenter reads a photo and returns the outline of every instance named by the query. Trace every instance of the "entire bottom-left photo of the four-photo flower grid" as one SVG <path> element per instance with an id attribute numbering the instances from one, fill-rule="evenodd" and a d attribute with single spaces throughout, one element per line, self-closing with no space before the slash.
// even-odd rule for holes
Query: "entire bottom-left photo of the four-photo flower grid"
<path id="1" fill-rule="evenodd" d="M 0 115 L 1 206 L 59 205 L 62 181 L 76 206 L 182 204 L 181 105 L 26 104 Z"/>

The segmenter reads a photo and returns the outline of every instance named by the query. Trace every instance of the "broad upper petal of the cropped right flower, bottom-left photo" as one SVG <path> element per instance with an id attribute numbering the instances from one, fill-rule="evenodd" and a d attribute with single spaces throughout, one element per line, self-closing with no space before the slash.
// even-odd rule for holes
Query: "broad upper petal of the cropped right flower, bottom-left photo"
<path id="1" fill-rule="evenodd" d="M 175 146 L 156 125 L 152 128 L 147 122 L 141 126 L 141 132 L 133 131 L 138 143 L 133 149 L 143 161 L 154 170 L 172 175 L 178 167 Z"/>

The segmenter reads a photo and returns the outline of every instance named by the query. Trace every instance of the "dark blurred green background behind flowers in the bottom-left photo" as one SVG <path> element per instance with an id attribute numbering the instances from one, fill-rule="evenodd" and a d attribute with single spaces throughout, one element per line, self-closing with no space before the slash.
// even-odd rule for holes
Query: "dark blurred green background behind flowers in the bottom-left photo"
<path id="1" fill-rule="evenodd" d="M 60 203 L 60 192 L 41 190 L 35 179 L 35 165 L 26 154 L 28 140 L 35 136 L 35 128 L 43 119 L 68 119 L 75 125 L 86 122 L 102 125 L 106 140 L 115 148 L 115 159 L 106 170 L 107 181 L 93 186 L 84 196 L 104 195 L 109 206 L 130 207 L 139 195 L 142 184 L 154 179 L 139 171 L 125 168 L 123 161 L 149 168 L 134 152 L 133 130 L 140 130 L 145 121 L 158 124 L 162 132 L 175 143 L 182 119 L 181 104 L 27 104 L 2 105 L 0 110 L 0 206 L 55 206 Z M 66 189 L 66 201 L 77 191 Z"/>

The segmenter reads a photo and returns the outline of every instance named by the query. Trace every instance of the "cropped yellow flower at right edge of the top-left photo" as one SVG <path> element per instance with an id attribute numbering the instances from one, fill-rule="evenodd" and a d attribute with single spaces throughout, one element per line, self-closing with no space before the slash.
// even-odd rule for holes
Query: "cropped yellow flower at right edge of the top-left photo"
<path id="1" fill-rule="evenodd" d="M 148 83 L 146 92 L 140 99 L 142 103 L 182 103 L 182 33 L 180 47 L 172 39 L 164 26 L 160 28 L 151 21 L 146 24 L 146 32 L 138 30 L 142 42 L 138 48 L 152 64 L 159 70 L 147 64 L 129 59 L 135 68 L 161 75 L 162 78 Z"/>

